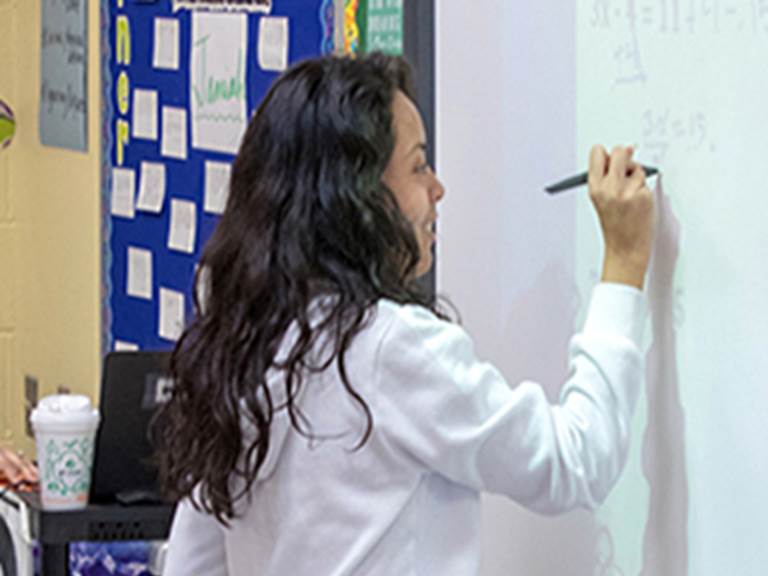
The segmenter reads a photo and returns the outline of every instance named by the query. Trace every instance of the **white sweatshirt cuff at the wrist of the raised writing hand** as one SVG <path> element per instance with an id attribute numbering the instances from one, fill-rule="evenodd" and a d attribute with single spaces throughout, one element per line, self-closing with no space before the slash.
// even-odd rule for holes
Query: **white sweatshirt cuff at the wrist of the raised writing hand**
<path id="1" fill-rule="evenodd" d="M 627 284 L 601 282 L 592 292 L 583 333 L 625 336 L 639 347 L 647 314 L 644 292 Z"/>

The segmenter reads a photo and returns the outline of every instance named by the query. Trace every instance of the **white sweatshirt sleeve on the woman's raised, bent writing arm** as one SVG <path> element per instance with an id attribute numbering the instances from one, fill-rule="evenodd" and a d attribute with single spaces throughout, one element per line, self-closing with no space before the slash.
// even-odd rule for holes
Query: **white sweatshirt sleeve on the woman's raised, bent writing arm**
<path id="1" fill-rule="evenodd" d="M 595 288 L 551 404 L 538 384 L 511 388 L 461 327 L 401 307 L 376 356 L 376 426 L 404 458 L 454 482 L 545 514 L 594 508 L 626 460 L 646 308 L 635 288 Z"/>

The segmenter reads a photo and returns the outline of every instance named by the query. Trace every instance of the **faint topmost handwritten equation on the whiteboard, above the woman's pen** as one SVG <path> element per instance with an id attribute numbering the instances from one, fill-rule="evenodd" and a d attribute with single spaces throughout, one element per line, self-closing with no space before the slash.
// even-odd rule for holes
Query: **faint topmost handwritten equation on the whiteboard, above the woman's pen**
<path id="1" fill-rule="evenodd" d="M 589 26 L 616 35 L 616 84 L 644 83 L 641 39 L 768 39 L 768 0 L 592 0 Z"/>

